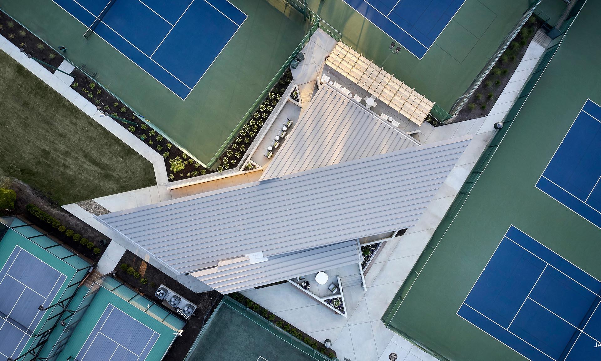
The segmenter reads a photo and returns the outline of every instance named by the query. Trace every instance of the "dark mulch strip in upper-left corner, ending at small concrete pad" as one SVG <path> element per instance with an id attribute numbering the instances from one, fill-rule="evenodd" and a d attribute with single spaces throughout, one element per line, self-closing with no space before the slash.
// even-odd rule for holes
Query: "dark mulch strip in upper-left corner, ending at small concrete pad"
<path id="1" fill-rule="evenodd" d="M 54 49 L 50 48 L 50 46 L 38 39 L 37 36 L 31 34 L 31 32 L 27 31 L 23 26 L 19 25 L 19 23 L 1 11 L 0 34 L 17 47 L 23 48 L 26 54 L 29 54 L 44 63 L 48 63 L 53 67 L 58 67 L 63 63 L 63 57 L 54 51 Z M 51 67 L 43 66 L 50 70 L 50 72 L 55 71 Z"/>

